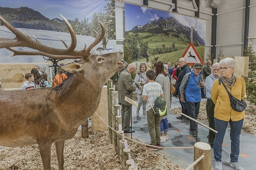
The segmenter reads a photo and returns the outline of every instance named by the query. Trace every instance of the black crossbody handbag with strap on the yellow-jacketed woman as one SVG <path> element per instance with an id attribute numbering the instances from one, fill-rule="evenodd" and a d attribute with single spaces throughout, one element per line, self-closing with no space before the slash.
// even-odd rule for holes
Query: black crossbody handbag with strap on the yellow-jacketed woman
<path id="1" fill-rule="evenodd" d="M 246 108 L 247 104 L 243 100 L 238 100 L 233 95 L 231 95 L 230 92 L 228 91 L 227 87 L 224 85 L 223 81 L 221 80 L 221 78 L 219 78 L 219 84 L 221 84 L 221 83 L 223 84 L 223 86 L 225 87 L 225 89 L 228 93 L 232 109 L 237 112 L 243 112 L 244 109 Z"/>

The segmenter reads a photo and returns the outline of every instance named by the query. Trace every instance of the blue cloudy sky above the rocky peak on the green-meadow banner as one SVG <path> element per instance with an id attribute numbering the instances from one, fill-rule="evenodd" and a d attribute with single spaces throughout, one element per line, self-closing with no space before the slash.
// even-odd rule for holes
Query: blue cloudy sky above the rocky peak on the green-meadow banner
<path id="1" fill-rule="evenodd" d="M 203 19 L 125 3 L 125 31 L 129 31 L 137 25 L 142 26 L 149 21 L 159 19 L 160 17 L 163 17 L 164 19 L 167 17 L 174 17 L 184 26 L 193 26 L 199 36 L 205 41 L 206 21 Z"/>

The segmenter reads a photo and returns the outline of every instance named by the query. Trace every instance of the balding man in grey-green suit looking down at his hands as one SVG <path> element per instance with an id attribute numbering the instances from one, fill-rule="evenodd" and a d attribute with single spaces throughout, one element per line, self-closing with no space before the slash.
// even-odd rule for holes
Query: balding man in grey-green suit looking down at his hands
<path id="1" fill-rule="evenodd" d="M 120 73 L 118 78 L 118 99 L 121 101 L 121 116 L 122 116 L 122 126 L 124 133 L 133 133 L 134 130 L 130 129 L 130 120 L 131 120 L 131 104 L 125 101 L 125 96 L 132 99 L 132 92 L 135 91 L 136 87 L 139 90 L 142 89 L 139 82 L 135 82 L 133 85 L 133 80 L 131 78 L 131 74 L 135 73 L 137 70 L 137 66 L 133 63 L 129 64 L 127 69 Z"/>

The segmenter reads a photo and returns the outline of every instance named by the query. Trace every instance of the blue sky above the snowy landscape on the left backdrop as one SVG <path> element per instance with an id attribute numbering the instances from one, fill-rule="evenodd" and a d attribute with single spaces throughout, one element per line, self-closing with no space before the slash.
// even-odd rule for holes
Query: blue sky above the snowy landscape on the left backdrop
<path id="1" fill-rule="evenodd" d="M 49 19 L 61 19 L 59 15 L 61 14 L 68 20 L 78 18 L 81 21 L 86 17 L 91 22 L 93 13 L 104 10 L 108 2 L 104 0 L 0 0 L 0 6 L 10 8 L 26 6 Z"/>

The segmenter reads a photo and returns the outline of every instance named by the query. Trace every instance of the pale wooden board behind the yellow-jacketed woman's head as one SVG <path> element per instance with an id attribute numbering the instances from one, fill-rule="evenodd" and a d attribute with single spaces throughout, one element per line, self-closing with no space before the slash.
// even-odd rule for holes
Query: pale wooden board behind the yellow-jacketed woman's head
<path id="1" fill-rule="evenodd" d="M 219 61 L 227 57 L 219 57 Z M 244 76 L 248 76 L 248 68 L 249 68 L 249 57 L 241 57 L 241 56 L 231 56 L 236 61 L 236 67 L 234 69 L 234 74 L 244 78 Z"/>

